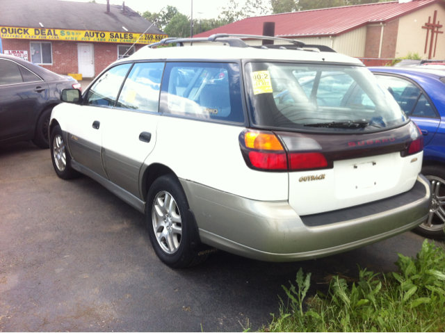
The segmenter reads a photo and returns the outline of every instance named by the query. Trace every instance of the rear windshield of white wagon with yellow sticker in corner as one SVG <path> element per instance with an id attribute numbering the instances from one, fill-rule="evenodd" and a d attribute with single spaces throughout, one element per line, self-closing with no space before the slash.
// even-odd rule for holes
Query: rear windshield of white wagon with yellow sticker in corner
<path id="1" fill-rule="evenodd" d="M 248 63 L 253 125 L 307 131 L 378 131 L 407 122 L 366 67 Z"/>

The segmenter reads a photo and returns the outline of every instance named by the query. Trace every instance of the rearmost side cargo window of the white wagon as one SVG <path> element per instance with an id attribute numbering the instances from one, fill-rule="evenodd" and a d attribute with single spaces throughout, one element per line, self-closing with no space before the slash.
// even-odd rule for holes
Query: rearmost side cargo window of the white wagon
<path id="1" fill-rule="evenodd" d="M 167 63 L 163 113 L 244 122 L 240 72 L 234 63 Z"/>

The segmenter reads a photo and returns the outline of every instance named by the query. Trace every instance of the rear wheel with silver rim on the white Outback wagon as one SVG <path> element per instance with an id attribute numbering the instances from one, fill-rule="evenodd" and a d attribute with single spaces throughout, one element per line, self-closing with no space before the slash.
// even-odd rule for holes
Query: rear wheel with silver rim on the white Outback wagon
<path id="1" fill-rule="evenodd" d="M 202 263 L 208 254 L 195 250 L 197 228 L 186 194 L 174 174 L 159 177 L 147 193 L 147 228 L 156 255 L 172 268 Z"/>

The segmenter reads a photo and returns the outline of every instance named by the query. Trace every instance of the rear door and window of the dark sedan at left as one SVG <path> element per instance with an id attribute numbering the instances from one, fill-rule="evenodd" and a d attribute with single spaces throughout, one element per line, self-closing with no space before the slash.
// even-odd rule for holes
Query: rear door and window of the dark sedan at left
<path id="1" fill-rule="evenodd" d="M 40 77 L 13 60 L 0 59 L 0 141 L 33 131 L 48 95 Z"/>

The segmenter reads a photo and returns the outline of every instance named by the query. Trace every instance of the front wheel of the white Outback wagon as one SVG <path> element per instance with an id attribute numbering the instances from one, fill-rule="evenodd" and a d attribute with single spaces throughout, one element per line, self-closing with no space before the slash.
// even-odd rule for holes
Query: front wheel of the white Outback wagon
<path id="1" fill-rule="evenodd" d="M 71 167 L 70 152 L 65 145 L 62 129 L 60 126 L 54 127 L 51 132 L 50 139 L 51 160 L 53 161 L 54 170 L 61 179 L 71 179 L 79 173 Z"/>

